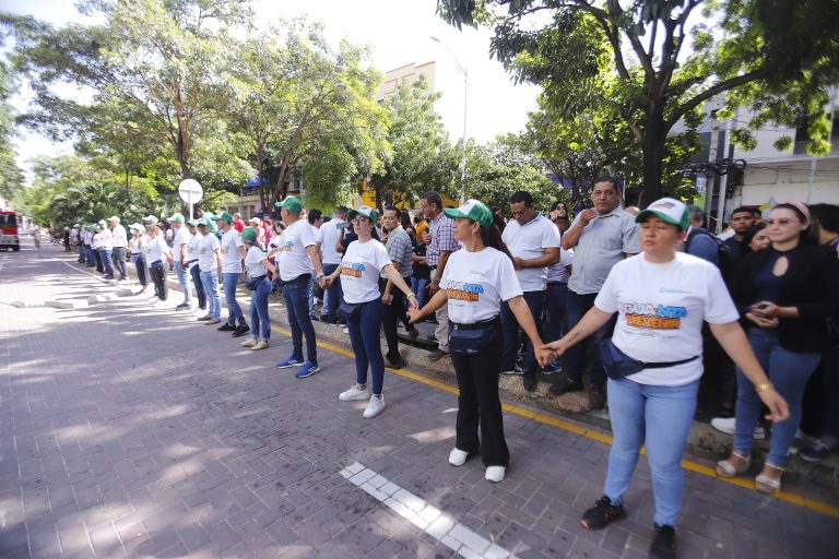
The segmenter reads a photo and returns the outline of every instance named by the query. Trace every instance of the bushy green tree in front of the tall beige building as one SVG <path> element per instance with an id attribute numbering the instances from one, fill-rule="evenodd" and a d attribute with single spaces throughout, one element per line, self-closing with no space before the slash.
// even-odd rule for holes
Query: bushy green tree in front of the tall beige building
<path id="1" fill-rule="evenodd" d="M 370 180 L 378 206 L 386 198 L 394 203 L 406 194 L 447 190 L 451 182 L 457 162 L 442 120 L 434 110 L 439 96 L 430 93 L 425 76 L 420 76 L 400 83 L 395 95 L 385 102 L 393 153 Z"/>

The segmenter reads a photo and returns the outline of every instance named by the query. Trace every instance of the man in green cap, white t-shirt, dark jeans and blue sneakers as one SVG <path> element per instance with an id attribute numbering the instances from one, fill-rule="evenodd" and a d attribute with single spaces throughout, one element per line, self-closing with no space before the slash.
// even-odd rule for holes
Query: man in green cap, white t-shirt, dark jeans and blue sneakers
<path id="1" fill-rule="evenodd" d="M 288 324 L 292 328 L 294 353 L 287 359 L 276 364 L 277 369 L 299 366 L 296 377 L 304 379 L 320 370 L 318 366 L 317 340 L 315 326 L 309 318 L 309 300 L 311 299 L 312 277 L 321 287 L 326 285 L 320 255 L 315 242 L 315 233 L 309 222 L 300 218 L 303 203 L 295 197 L 286 197 L 274 205 L 280 207 L 280 216 L 288 225 L 283 234 L 280 246 L 277 266 L 283 281 L 283 298 L 288 313 Z M 303 336 L 306 336 L 306 361 L 303 360 Z"/>

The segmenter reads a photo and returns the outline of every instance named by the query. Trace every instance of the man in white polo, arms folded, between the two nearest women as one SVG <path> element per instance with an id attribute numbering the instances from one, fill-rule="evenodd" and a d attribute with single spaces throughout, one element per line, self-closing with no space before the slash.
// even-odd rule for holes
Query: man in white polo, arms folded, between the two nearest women
<path id="1" fill-rule="evenodd" d="M 540 324 L 539 318 L 545 306 L 547 266 L 559 261 L 559 231 L 551 219 L 536 210 L 530 192 L 519 190 L 512 193 L 510 213 L 512 213 L 512 219 L 504 228 L 501 239 L 512 254 L 516 277 L 521 285 L 524 301 L 536 324 Z M 504 332 L 501 371 L 508 374 L 522 374 L 524 390 L 534 390 L 537 364 L 533 344 L 525 341 L 524 360 L 521 367 L 517 368 L 519 323 L 506 302 L 501 304 L 501 330 Z"/>

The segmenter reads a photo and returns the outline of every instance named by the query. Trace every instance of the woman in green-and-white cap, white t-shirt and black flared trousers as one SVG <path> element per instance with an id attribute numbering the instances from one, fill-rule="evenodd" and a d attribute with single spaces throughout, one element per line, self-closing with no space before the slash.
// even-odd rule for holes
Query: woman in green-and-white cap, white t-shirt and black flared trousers
<path id="1" fill-rule="evenodd" d="M 513 257 L 493 223 L 492 211 L 477 200 L 469 200 L 457 210 L 444 212 L 454 221 L 454 239 L 462 250 L 449 257 L 440 289 L 432 300 L 421 310 L 409 310 L 407 316 L 411 322 L 417 322 L 448 306 L 448 342 L 460 391 L 457 438 L 449 464 L 463 465 L 480 448 L 485 478 L 498 483 L 510 462 L 498 395 L 503 302 L 507 302 L 536 348 L 540 365 L 547 365 L 551 352 L 542 347 L 536 323 L 516 277 Z"/>

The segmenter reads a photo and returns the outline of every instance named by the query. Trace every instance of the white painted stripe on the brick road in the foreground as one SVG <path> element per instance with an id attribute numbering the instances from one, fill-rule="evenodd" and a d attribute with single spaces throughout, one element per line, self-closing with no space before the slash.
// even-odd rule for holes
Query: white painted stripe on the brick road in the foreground
<path id="1" fill-rule="evenodd" d="M 466 559 L 518 559 L 503 547 L 475 534 L 439 509 L 358 462 L 346 466 L 341 471 L 341 475 Z"/>

